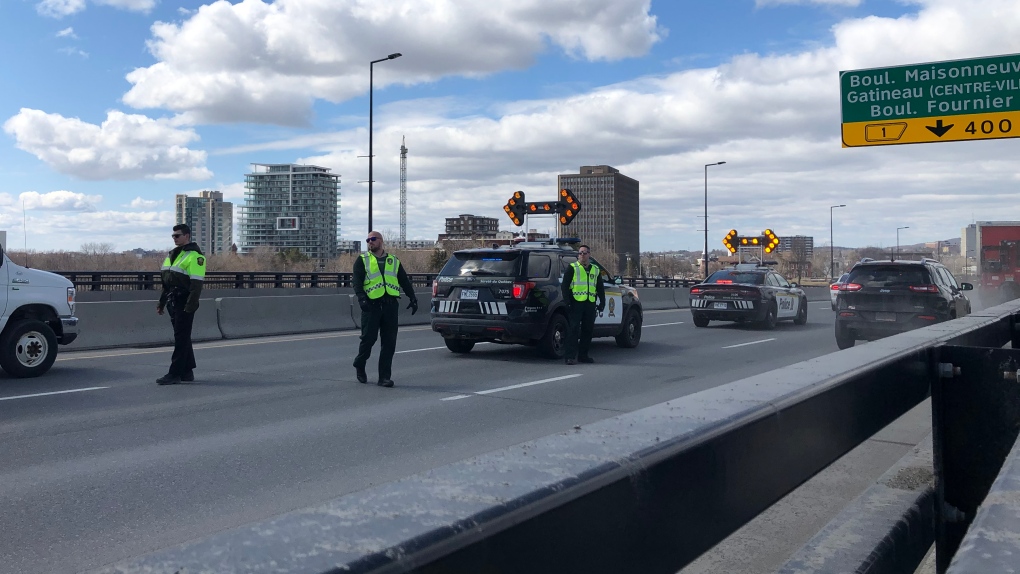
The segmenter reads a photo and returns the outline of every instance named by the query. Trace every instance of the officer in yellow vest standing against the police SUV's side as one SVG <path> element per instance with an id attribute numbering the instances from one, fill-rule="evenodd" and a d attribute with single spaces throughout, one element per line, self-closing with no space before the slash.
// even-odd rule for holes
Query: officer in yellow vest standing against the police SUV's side
<path id="1" fill-rule="evenodd" d="M 595 330 L 595 314 L 606 308 L 606 288 L 602 284 L 600 273 L 599 266 L 592 263 L 592 249 L 586 245 L 577 248 L 577 261 L 571 263 L 563 273 L 560 289 L 563 301 L 570 309 L 563 357 L 568 365 L 574 365 L 576 361 L 595 362 L 595 359 L 588 356 L 589 347 L 592 346 L 592 331 Z"/>

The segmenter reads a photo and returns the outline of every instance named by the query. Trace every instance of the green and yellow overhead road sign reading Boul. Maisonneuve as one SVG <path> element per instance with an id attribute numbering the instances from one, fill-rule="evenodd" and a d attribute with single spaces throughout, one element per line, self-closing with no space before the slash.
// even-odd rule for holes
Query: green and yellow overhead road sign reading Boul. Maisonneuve
<path id="1" fill-rule="evenodd" d="M 1020 54 L 839 72 L 843 147 L 1020 138 Z"/>

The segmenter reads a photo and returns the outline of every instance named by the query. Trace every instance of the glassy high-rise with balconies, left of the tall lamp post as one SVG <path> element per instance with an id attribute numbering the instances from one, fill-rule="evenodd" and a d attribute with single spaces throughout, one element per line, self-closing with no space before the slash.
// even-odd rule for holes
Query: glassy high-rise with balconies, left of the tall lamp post
<path id="1" fill-rule="evenodd" d="M 340 175 L 328 167 L 253 163 L 245 174 L 239 251 L 297 249 L 312 259 L 337 257 Z"/>

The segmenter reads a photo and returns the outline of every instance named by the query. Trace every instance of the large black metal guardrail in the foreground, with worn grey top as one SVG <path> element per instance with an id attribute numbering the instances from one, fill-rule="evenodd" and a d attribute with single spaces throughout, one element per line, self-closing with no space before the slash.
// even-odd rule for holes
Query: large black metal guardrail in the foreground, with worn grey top
<path id="1" fill-rule="evenodd" d="M 917 499 L 934 520 L 874 521 L 887 532 L 866 539 L 880 542 L 838 571 L 912 572 L 935 540 L 946 572 L 975 514 L 991 514 L 978 507 L 1001 502 L 982 502 L 997 469 L 1020 474 L 1003 458 L 1020 457 L 1004 454 L 1020 351 L 1002 349 L 1020 347 L 1018 324 L 1020 303 L 1005 304 L 100 571 L 673 574 L 934 389 L 935 494 Z M 998 517 L 1006 535 L 959 555 L 1020 556 L 1020 519 Z"/>

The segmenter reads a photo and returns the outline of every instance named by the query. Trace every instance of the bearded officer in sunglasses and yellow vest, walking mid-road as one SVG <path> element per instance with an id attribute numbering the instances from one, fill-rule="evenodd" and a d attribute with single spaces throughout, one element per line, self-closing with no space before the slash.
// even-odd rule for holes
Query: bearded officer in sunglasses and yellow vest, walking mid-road
<path id="1" fill-rule="evenodd" d="M 379 386 L 393 386 L 390 378 L 393 354 L 397 349 L 397 312 L 400 310 L 400 289 L 403 288 L 410 303 L 411 314 L 418 312 L 418 298 L 404 267 L 395 256 L 386 252 L 382 233 L 371 231 L 365 240 L 368 253 L 354 261 L 354 294 L 361 306 L 361 345 L 354 358 L 358 382 L 367 383 L 365 364 L 372 354 L 375 340 L 381 335 L 379 349 Z"/>

